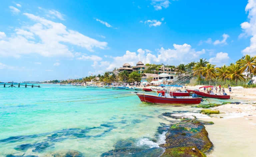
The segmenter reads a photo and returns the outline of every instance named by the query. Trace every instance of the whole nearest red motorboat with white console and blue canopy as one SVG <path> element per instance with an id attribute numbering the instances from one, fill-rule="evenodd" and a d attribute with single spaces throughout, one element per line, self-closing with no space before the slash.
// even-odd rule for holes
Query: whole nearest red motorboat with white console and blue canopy
<path id="1" fill-rule="evenodd" d="M 174 86 L 174 85 L 165 85 L 167 88 L 165 89 L 165 94 L 162 95 L 161 93 L 158 96 L 144 94 L 144 93 L 137 93 L 136 95 L 140 98 L 141 102 L 146 103 L 154 103 L 154 104 L 199 104 L 202 102 L 202 98 L 192 97 L 192 96 L 172 96 L 169 87 L 182 87 L 182 86 Z"/>

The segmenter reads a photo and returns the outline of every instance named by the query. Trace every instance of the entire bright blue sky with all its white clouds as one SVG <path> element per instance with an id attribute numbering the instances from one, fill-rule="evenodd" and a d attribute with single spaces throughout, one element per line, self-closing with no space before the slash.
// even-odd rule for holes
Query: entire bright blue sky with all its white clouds
<path id="1" fill-rule="evenodd" d="M 78 79 L 138 61 L 256 55 L 256 0 L 2 1 L 0 81 Z"/>

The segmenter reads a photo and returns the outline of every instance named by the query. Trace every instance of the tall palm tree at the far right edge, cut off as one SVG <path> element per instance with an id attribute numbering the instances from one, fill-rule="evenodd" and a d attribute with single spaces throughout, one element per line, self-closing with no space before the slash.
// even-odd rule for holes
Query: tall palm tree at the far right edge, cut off
<path id="1" fill-rule="evenodd" d="M 255 65 L 256 65 L 256 57 L 251 57 L 250 55 L 246 54 L 244 59 L 241 59 L 240 61 L 237 62 L 242 66 L 241 71 L 243 72 L 245 69 L 249 71 L 251 81 L 252 81 L 252 75 L 251 73 L 255 70 Z M 252 81 L 253 84 L 253 81 Z"/>

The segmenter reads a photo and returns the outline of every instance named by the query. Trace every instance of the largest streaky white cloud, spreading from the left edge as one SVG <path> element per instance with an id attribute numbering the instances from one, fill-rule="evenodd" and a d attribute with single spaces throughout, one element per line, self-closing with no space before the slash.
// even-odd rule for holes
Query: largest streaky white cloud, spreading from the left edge
<path id="1" fill-rule="evenodd" d="M 105 49 L 107 47 L 107 42 L 100 42 L 77 31 L 69 30 L 61 23 L 29 13 L 23 15 L 34 24 L 15 29 L 10 37 L 5 37 L 5 33 L 0 32 L 0 54 L 2 56 L 18 58 L 34 53 L 46 57 L 72 58 L 74 57 L 73 50 L 70 50 L 67 44 L 76 45 L 91 52 L 95 48 Z"/>

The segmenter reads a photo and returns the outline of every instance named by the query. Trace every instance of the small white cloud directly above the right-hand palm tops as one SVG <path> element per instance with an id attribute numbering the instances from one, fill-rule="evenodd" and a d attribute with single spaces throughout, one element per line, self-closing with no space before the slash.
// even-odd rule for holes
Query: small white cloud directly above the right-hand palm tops
<path id="1" fill-rule="evenodd" d="M 227 64 L 229 61 L 228 53 L 219 52 L 216 54 L 215 57 L 212 57 L 209 59 L 209 62 L 211 64 L 216 64 L 217 67 L 223 66 L 224 64 Z"/>

